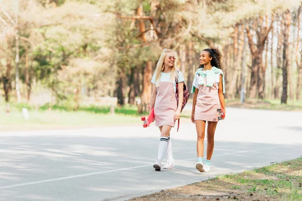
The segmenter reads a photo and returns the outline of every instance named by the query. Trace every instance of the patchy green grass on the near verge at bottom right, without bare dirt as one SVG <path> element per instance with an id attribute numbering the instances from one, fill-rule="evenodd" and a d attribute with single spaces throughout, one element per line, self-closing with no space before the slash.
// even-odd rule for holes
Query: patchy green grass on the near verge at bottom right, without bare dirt
<path id="1" fill-rule="evenodd" d="M 233 183 L 233 189 L 239 189 L 237 186 L 243 185 L 248 193 L 282 196 L 286 197 L 285 200 L 302 200 L 302 157 L 239 174 L 220 175 L 219 179 Z"/>

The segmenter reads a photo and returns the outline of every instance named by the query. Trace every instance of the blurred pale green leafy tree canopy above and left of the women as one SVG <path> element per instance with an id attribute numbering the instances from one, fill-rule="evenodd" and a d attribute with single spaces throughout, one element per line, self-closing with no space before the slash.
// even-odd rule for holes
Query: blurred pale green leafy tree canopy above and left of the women
<path id="1" fill-rule="evenodd" d="M 142 20 L 144 33 L 139 20 L 117 17 L 137 16 L 140 3 L 142 16 L 153 18 Z M 196 53 L 210 42 L 220 46 L 230 40 L 234 25 L 242 19 L 280 13 L 297 8 L 300 3 L 25 0 L 17 5 L 17 1 L 2 1 L 0 16 L 6 25 L 0 27 L 0 68 L 5 72 L 11 63 L 9 75 L 14 80 L 17 29 L 12 21 L 16 21 L 16 8 L 22 82 L 33 83 L 35 79 L 52 89 L 57 102 L 71 102 L 79 88 L 99 91 L 101 96 L 112 94 L 121 71 L 127 79 L 131 68 L 142 72 L 147 61 L 152 61 L 155 69 L 164 48 L 178 51 L 181 44 L 193 41 Z M 142 82 L 141 77 L 139 81 Z"/>

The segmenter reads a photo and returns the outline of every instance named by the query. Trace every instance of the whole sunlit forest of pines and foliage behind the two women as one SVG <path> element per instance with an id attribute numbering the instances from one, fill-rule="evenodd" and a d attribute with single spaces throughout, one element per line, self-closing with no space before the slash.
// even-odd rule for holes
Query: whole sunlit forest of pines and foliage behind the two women
<path id="1" fill-rule="evenodd" d="M 143 113 L 164 48 L 190 89 L 200 52 L 216 47 L 227 102 L 300 107 L 301 2 L 1 0 L 0 103 L 7 114 Z"/>

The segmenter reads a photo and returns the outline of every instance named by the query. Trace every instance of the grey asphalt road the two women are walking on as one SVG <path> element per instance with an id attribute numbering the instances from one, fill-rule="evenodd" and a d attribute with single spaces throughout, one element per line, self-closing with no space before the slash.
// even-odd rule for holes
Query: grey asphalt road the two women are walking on
<path id="1" fill-rule="evenodd" d="M 209 173 L 195 169 L 194 124 L 173 129 L 176 165 L 160 172 L 159 129 L 139 119 L 135 127 L 0 132 L 0 200 L 125 200 L 297 158 L 301 120 L 301 112 L 227 109 Z"/>

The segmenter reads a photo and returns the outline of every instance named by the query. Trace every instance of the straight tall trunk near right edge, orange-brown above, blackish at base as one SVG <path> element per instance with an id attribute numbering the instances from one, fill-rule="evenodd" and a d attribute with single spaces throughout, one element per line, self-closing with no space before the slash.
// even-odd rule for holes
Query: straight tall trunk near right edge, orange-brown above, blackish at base
<path id="1" fill-rule="evenodd" d="M 289 10 L 285 12 L 284 16 L 284 30 L 283 30 L 283 66 L 282 66 L 282 95 L 281 95 L 281 103 L 287 103 L 287 72 L 290 66 L 290 57 L 289 57 L 289 30 L 290 30 L 290 23 L 291 23 L 291 16 Z"/>

